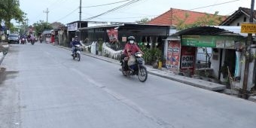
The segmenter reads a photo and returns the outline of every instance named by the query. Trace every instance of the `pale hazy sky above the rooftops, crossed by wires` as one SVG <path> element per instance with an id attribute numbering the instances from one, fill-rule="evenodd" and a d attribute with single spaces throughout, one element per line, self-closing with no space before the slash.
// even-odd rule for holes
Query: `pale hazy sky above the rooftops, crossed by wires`
<path id="1" fill-rule="evenodd" d="M 81 0 L 81 20 L 86 21 L 90 17 L 95 17 L 132 1 Z M 59 22 L 65 25 L 78 21 L 79 5 L 80 0 L 20 0 L 20 9 L 27 14 L 26 17 L 29 19 L 29 25 L 40 20 L 47 22 L 47 19 L 48 23 Z M 96 5 L 104 6 L 92 7 Z M 133 23 L 146 17 L 149 19 L 157 17 L 169 11 L 170 8 L 209 14 L 215 14 L 215 11 L 218 11 L 220 15 L 230 15 L 237 11 L 239 7 L 251 8 L 251 0 L 137 0 L 133 4 L 89 21 Z M 47 8 L 49 11 L 48 18 L 47 13 L 45 13 Z M 254 10 L 255 8 L 254 5 Z"/>

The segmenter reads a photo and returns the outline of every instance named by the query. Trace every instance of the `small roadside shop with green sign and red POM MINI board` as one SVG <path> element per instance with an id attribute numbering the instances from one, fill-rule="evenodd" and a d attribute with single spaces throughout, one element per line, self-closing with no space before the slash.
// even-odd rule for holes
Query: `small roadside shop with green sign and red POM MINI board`
<path id="1" fill-rule="evenodd" d="M 208 75 L 225 81 L 229 71 L 233 78 L 240 78 L 242 47 L 245 44 L 244 37 L 241 35 L 225 29 L 201 26 L 177 32 L 172 36 L 179 36 L 181 39 L 180 41 L 169 41 L 167 63 L 170 69 L 194 75 L 198 71 L 196 69 L 197 50 L 199 47 L 205 47 L 205 50 L 212 49 L 211 56 L 206 56 L 209 59 L 207 70 L 211 71 L 208 72 Z"/>

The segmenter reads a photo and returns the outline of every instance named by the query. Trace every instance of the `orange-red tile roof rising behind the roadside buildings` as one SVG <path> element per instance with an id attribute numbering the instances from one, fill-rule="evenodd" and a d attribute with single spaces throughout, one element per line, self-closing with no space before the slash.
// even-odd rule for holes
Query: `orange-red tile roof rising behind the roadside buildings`
<path id="1" fill-rule="evenodd" d="M 200 17 L 205 17 L 206 13 L 201 13 L 197 11 L 186 11 L 181 9 L 171 8 L 169 11 L 166 11 L 164 14 L 154 18 L 149 21 L 148 24 L 157 24 L 157 25 L 177 25 L 179 20 L 184 20 L 185 16 L 188 15 L 187 20 L 185 20 L 185 24 L 191 24 L 198 20 Z M 211 14 L 213 15 L 213 14 Z M 226 18 L 221 16 L 222 18 Z"/>

